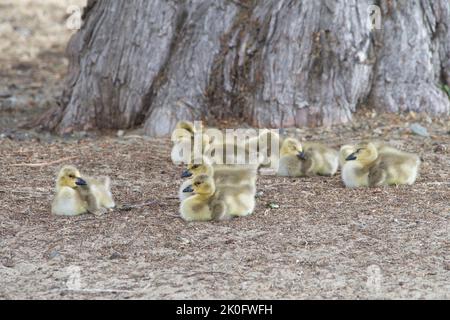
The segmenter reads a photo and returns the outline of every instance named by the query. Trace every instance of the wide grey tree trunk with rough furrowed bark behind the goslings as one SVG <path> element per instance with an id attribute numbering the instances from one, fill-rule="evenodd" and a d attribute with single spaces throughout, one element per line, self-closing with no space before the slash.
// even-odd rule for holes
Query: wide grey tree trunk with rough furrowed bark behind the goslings
<path id="1" fill-rule="evenodd" d="M 450 111 L 448 0 L 90 0 L 68 53 L 60 107 L 42 119 L 58 131 L 329 125 L 363 103 Z"/>

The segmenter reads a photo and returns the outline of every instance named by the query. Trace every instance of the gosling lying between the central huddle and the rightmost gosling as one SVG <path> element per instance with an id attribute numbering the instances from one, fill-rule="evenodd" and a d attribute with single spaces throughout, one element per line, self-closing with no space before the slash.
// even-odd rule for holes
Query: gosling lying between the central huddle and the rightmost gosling
<path id="1" fill-rule="evenodd" d="M 333 176 L 339 166 L 336 150 L 319 143 L 305 143 L 287 138 L 280 150 L 278 175 L 299 177 L 307 175 Z"/>

